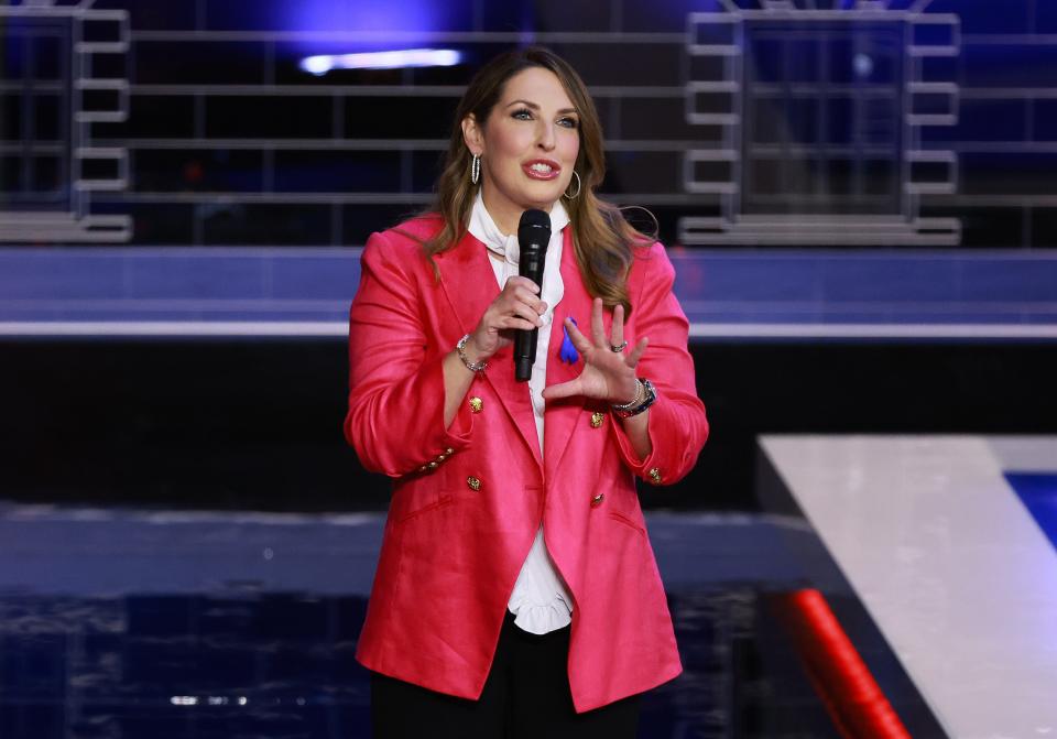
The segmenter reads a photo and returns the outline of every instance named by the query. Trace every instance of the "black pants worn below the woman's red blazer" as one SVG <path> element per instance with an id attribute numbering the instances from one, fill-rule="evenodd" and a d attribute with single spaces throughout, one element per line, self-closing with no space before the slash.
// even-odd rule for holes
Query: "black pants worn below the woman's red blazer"
<path id="1" fill-rule="evenodd" d="M 638 695 L 574 710 L 568 653 L 569 627 L 536 635 L 508 613 L 480 700 L 371 673 L 374 739 L 634 739 Z"/>

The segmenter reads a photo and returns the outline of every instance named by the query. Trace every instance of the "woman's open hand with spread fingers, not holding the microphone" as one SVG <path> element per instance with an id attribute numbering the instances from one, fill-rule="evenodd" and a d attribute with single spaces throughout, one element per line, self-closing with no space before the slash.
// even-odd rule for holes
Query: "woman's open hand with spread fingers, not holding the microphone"
<path id="1" fill-rule="evenodd" d="M 630 354 L 619 347 L 624 341 L 624 307 L 613 308 L 612 336 L 606 338 L 602 324 L 602 298 L 596 297 L 591 306 L 591 340 L 573 324 L 565 319 L 565 329 L 573 346 L 584 357 L 584 371 L 575 380 L 552 385 L 543 391 L 546 400 L 584 395 L 609 403 L 630 403 L 636 391 L 635 367 L 646 350 L 650 340 L 643 337 Z"/>

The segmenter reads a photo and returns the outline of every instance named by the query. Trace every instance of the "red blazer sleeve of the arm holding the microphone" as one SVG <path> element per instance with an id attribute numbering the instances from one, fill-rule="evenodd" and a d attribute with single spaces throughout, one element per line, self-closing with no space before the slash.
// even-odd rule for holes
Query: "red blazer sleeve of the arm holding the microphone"
<path id="1" fill-rule="evenodd" d="M 349 311 L 345 437 L 367 469 L 402 477 L 464 448 L 472 420 L 462 403 L 444 427 L 446 352 L 429 347 L 423 324 L 424 282 L 414 272 L 426 262 L 418 244 L 373 233 L 360 262 Z"/>

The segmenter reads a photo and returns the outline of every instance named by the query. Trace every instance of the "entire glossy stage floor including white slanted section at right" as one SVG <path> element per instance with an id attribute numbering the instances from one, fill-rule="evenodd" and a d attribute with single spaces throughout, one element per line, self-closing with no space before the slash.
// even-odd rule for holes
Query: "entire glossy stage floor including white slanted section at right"
<path id="1" fill-rule="evenodd" d="M 760 447 L 770 512 L 647 517 L 685 672 L 640 737 L 1057 732 L 1057 438 Z M 381 524 L 0 508 L 0 736 L 369 736 L 352 654 Z M 825 645 L 789 619 L 803 593 L 873 705 L 826 684 Z M 863 708 L 886 727 L 842 714 Z"/>

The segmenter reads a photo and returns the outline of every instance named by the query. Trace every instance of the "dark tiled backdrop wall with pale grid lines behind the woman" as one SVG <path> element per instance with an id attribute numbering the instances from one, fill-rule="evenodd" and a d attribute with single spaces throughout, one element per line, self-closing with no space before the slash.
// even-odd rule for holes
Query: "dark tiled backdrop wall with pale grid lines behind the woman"
<path id="1" fill-rule="evenodd" d="M 963 33 L 958 17 L 914 0 L 717 0 L 705 6 L 715 9 L 707 13 L 687 12 L 700 8 L 687 1 L 682 15 L 676 6 L 646 13 L 631 0 L 592 4 L 587 15 L 534 2 L 527 7 L 535 28 L 524 31 L 500 7 L 448 4 L 456 8 L 450 22 L 418 33 L 293 30 L 271 17 L 251 21 L 244 8 L 220 0 L 159 4 L 150 15 L 138 15 L 145 6 L 127 0 L 0 0 L 6 18 L 63 18 L 81 34 L 69 48 L 70 85 L 34 81 L 36 95 L 68 89 L 80 106 L 65 123 L 67 134 L 0 142 L 4 161 L 21 162 L 29 145 L 68 166 L 69 208 L 61 220 L 42 221 L 40 210 L 14 214 L 9 207 L 0 240 L 361 243 L 371 230 L 429 203 L 446 145 L 440 137 L 461 85 L 424 72 L 384 80 L 305 79 L 291 75 L 287 62 L 304 45 L 382 39 L 457 46 L 473 64 L 526 40 L 555 47 L 581 70 L 602 115 L 606 194 L 652 208 L 669 241 L 675 235 L 695 242 L 718 224 L 713 242 L 758 243 L 755 231 L 739 231 L 754 217 L 742 189 L 751 181 L 743 161 L 751 126 L 741 55 L 745 23 L 851 21 L 908 29 L 900 213 L 918 233 L 884 243 L 957 243 L 965 217 L 973 246 L 999 246 L 995 235 L 1001 243 L 1057 244 L 1057 192 L 1046 176 L 1047 163 L 1057 159 L 1047 130 L 1057 110 L 1057 78 L 1047 69 L 1057 64 L 1045 64 L 1053 36 L 1035 20 L 1044 10 L 1032 11 L 1025 33 L 1004 24 L 996 34 L 982 33 L 979 18 L 970 18 L 973 32 Z M 962 14 L 982 12 L 967 8 Z M 982 59 L 995 54 L 1038 63 L 984 66 Z M 766 91 L 755 87 L 754 94 Z M 391 111 L 390 120 L 369 115 L 377 109 Z M 4 110 L 10 119 L 13 105 L 6 102 Z M 981 132 L 976 113 L 992 110 L 1002 115 L 990 117 L 993 131 Z M 787 146 L 804 153 L 799 142 Z M 951 166 L 937 163 L 951 157 Z M 1003 176 L 993 176 L 999 167 Z M 1012 175 L 1012 167 L 1021 171 Z M 6 187 L 9 204 L 15 189 Z M 137 218 L 134 232 L 129 216 Z M 922 218 L 934 219 L 931 227 L 914 226 Z M 995 230 L 1000 221 L 1010 228 Z M 828 242 L 826 233 L 805 233 L 796 238 Z"/>

